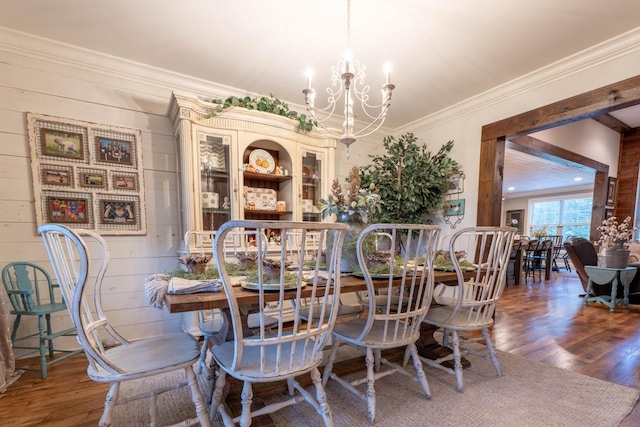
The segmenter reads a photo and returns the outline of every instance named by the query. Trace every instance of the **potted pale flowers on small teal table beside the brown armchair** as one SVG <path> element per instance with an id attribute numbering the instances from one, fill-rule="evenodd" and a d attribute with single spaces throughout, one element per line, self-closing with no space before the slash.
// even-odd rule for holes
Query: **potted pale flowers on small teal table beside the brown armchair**
<path id="1" fill-rule="evenodd" d="M 633 239 L 633 232 L 636 228 L 631 225 L 631 217 L 626 217 L 622 222 L 618 222 L 615 216 L 602 221 L 598 227 L 600 239 L 598 245 L 606 248 L 605 267 L 625 268 L 629 261 L 629 248 L 626 243 Z"/>

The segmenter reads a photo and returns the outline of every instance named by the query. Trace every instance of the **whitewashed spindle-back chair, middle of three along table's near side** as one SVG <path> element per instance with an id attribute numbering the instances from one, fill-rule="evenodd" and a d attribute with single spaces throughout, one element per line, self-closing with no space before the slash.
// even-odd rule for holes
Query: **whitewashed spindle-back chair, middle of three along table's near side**
<path id="1" fill-rule="evenodd" d="M 373 257 L 370 240 L 377 233 L 391 236 L 389 256 Z M 429 399 L 429 383 L 418 357 L 416 341 L 420 324 L 429 310 L 433 292 L 433 259 L 440 228 L 424 224 L 371 224 L 360 234 L 357 243 L 358 262 L 367 285 L 366 316 L 336 323 L 333 346 L 323 373 L 323 383 L 329 379 L 367 402 L 368 422 L 375 424 L 375 381 L 391 374 L 417 380 Z M 375 248 L 374 248 L 375 252 Z M 380 282 L 381 281 L 381 282 Z M 377 282 L 377 283 L 374 283 Z M 372 296 L 386 296 L 386 303 Z M 332 372 L 337 349 L 341 343 L 365 353 L 365 378 L 344 379 Z M 402 364 L 383 357 L 382 350 L 405 347 Z M 409 358 L 415 372 L 406 368 Z M 385 369 L 381 369 L 384 365 Z M 366 387 L 362 387 L 366 384 Z"/>

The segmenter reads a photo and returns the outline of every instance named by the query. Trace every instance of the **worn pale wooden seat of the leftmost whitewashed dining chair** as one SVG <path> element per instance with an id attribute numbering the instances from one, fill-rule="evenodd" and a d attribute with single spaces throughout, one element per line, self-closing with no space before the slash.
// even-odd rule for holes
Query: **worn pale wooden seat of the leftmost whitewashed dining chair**
<path id="1" fill-rule="evenodd" d="M 126 375 L 109 372 L 102 367 L 87 370 L 94 381 L 109 382 L 114 379 L 132 379 L 170 371 L 182 365 L 194 363 L 200 356 L 196 339 L 184 332 L 175 332 L 133 341 L 127 345 L 111 348 L 105 352 L 109 360 Z"/>

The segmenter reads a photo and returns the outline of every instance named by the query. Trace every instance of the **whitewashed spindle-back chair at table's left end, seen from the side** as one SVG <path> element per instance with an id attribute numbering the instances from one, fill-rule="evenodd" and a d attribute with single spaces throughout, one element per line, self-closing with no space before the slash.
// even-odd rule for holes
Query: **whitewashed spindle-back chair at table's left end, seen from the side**
<path id="1" fill-rule="evenodd" d="M 185 332 L 173 332 L 136 341 L 127 340 L 114 328 L 102 305 L 103 279 L 110 260 L 104 239 L 93 231 L 71 230 L 59 224 L 42 225 L 38 232 L 42 235 L 67 303 L 78 341 L 89 361 L 87 374 L 94 381 L 110 384 L 100 426 L 111 425 L 114 405 L 147 398 L 150 398 L 151 425 L 156 425 L 157 396 L 185 386 L 191 390 L 195 414 L 180 425 L 199 422 L 201 426 L 210 426 L 206 404 L 193 370 L 200 355 L 196 339 Z M 115 341 L 115 344 L 110 343 L 106 347 L 105 343 L 109 341 Z M 120 384 L 124 381 L 179 370 L 184 372 L 184 381 L 119 399 Z"/>

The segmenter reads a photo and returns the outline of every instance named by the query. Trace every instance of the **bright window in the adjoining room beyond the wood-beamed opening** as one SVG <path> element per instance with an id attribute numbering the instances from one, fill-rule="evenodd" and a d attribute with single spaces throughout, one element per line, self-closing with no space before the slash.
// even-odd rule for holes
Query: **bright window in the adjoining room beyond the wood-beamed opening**
<path id="1" fill-rule="evenodd" d="M 547 235 L 589 238 L 593 196 L 576 194 L 557 198 L 536 199 L 529 202 L 529 236 L 538 230 Z"/>

